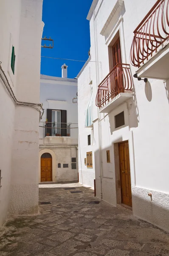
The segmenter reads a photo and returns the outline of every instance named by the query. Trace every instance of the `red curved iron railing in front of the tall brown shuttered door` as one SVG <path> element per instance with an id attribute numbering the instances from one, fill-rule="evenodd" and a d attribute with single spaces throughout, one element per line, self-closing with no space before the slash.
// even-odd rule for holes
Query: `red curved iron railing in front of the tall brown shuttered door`
<path id="1" fill-rule="evenodd" d="M 130 64 L 118 63 L 99 84 L 96 95 L 96 106 L 102 108 L 105 103 L 119 93 L 126 93 L 131 90 L 132 76 Z"/>

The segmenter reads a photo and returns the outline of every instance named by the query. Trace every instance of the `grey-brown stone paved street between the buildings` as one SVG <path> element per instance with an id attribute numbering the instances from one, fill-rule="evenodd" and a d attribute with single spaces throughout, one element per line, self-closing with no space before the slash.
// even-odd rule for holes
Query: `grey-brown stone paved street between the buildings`
<path id="1" fill-rule="evenodd" d="M 66 185 L 65 185 L 66 186 Z M 71 193 L 71 192 L 79 193 Z M 40 214 L 0 229 L 0 256 L 169 256 L 169 234 L 85 187 L 40 188 Z"/>

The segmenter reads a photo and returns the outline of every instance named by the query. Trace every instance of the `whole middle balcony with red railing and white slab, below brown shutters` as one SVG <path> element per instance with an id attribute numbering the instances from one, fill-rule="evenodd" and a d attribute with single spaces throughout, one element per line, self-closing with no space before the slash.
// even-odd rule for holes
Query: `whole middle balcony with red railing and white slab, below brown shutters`
<path id="1" fill-rule="evenodd" d="M 130 65 L 118 63 L 99 84 L 96 106 L 100 108 L 100 113 L 109 113 L 129 98 L 132 98 Z"/>

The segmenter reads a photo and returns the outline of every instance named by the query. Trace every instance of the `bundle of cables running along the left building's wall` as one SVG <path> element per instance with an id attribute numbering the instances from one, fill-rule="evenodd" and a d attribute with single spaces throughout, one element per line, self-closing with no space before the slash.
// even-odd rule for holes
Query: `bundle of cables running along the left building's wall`
<path id="1" fill-rule="evenodd" d="M 42 108 L 42 104 L 18 101 L 17 98 L 14 95 L 14 92 L 13 92 L 13 90 L 11 88 L 11 85 L 9 84 L 8 78 L 7 78 L 4 70 L 2 69 L 1 64 L 2 64 L 2 62 L 0 61 L 0 71 L 3 73 L 3 75 L 0 73 L 0 78 L 3 81 L 3 84 L 5 85 L 6 89 L 8 90 L 8 93 L 11 96 L 11 98 L 13 99 L 14 103 L 16 105 L 28 106 L 28 107 L 32 107 L 32 108 L 37 109 L 37 111 L 39 111 L 39 121 L 40 121 L 42 119 L 42 116 L 43 116 L 43 113 L 44 113 L 44 109 Z"/>

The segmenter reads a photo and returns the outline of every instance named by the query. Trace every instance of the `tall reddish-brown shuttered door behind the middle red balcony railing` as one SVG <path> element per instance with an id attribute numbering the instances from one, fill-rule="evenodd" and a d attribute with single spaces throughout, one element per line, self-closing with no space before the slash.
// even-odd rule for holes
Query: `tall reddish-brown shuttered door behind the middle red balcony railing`
<path id="1" fill-rule="evenodd" d="M 121 45 L 120 45 L 120 37 L 115 41 L 112 47 L 113 53 L 113 68 L 118 64 L 122 63 L 121 59 Z M 114 96 L 118 95 L 118 93 L 124 92 L 123 86 L 123 70 L 121 66 L 118 66 L 115 71 L 115 81 L 113 81 L 113 92 Z"/>

